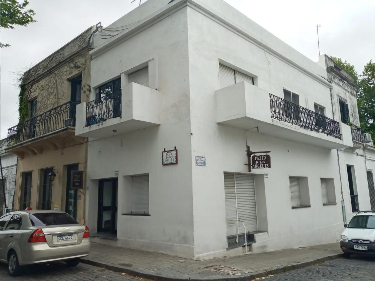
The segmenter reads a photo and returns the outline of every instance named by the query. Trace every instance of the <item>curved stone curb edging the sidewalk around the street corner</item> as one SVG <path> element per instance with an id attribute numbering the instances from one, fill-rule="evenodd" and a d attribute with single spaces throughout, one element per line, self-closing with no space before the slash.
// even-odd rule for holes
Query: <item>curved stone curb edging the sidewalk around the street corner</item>
<path id="1" fill-rule="evenodd" d="M 287 266 L 284 266 L 282 268 L 271 269 L 270 271 L 264 271 L 264 272 L 260 272 L 260 273 L 257 273 L 257 274 L 249 273 L 249 274 L 243 274 L 241 276 L 223 276 L 223 277 L 212 276 L 212 277 L 206 277 L 206 278 L 174 278 L 174 277 L 168 277 L 168 276 L 163 276 L 162 274 L 151 274 L 149 271 L 142 271 L 140 269 L 136 269 L 136 270 L 129 269 L 125 266 L 114 265 L 113 263 L 97 262 L 95 260 L 87 259 L 87 257 L 81 258 L 81 262 L 86 263 L 88 265 L 100 266 L 102 268 L 110 269 L 110 270 L 116 271 L 116 272 L 124 272 L 124 273 L 127 273 L 127 274 L 136 275 L 137 277 L 148 278 L 148 279 L 151 279 L 151 280 L 166 280 L 166 281 L 203 281 L 203 280 L 210 280 L 210 281 L 231 281 L 231 280 L 234 281 L 234 280 L 236 280 L 237 281 L 238 280 L 238 281 L 246 281 L 246 280 L 252 280 L 252 279 L 255 279 L 255 278 L 266 277 L 270 274 L 279 274 L 279 273 L 283 273 L 283 272 L 286 272 L 286 271 L 304 268 L 306 266 L 315 265 L 317 263 L 323 263 L 323 262 L 326 262 L 328 260 L 339 259 L 342 256 L 343 256 L 343 254 L 335 254 L 335 255 L 332 255 L 332 256 L 326 256 L 326 257 L 322 257 L 320 259 L 311 260 L 309 262 L 299 263 L 297 265 L 287 265 Z"/>

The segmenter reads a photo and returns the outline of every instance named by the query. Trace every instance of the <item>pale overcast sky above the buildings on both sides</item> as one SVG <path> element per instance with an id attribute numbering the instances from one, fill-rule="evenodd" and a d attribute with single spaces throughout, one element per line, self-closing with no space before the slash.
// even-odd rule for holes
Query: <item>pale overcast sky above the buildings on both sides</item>
<path id="1" fill-rule="evenodd" d="M 168 2 L 168 0 L 165 0 Z M 341 57 L 357 72 L 375 60 L 374 0 L 225 0 L 313 61 L 321 54 Z M 18 93 L 12 72 L 25 71 L 86 28 L 105 27 L 138 6 L 135 0 L 29 0 L 37 22 L 1 30 L 1 139 L 18 122 Z M 142 0 L 144 2 L 144 0 Z"/>

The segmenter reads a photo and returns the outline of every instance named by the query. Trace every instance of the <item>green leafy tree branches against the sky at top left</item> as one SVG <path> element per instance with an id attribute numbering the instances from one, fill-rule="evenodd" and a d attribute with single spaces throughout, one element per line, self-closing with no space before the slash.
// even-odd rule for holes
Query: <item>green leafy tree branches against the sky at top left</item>
<path id="1" fill-rule="evenodd" d="M 13 25 L 27 26 L 34 22 L 35 12 L 31 9 L 23 11 L 28 4 L 27 0 L 22 3 L 17 0 L 0 0 L 0 26 L 14 29 Z M 0 43 L 1 48 L 8 46 L 9 44 Z"/>

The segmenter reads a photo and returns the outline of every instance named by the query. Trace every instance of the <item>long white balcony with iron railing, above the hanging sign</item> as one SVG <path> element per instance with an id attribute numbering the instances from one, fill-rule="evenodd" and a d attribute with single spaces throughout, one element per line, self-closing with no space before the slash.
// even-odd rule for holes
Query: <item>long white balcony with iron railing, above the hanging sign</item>
<path id="1" fill-rule="evenodd" d="M 216 91 L 216 122 L 328 149 L 353 147 L 349 126 L 247 82 Z"/>

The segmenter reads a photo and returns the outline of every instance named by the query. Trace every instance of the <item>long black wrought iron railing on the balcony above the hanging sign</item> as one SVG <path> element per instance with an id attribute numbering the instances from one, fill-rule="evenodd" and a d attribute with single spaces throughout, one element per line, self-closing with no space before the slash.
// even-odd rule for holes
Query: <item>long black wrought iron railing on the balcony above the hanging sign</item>
<path id="1" fill-rule="evenodd" d="M 339 122 L 270 94 L 271 117 L 341 139 Z"/>

